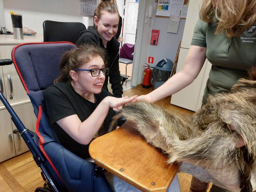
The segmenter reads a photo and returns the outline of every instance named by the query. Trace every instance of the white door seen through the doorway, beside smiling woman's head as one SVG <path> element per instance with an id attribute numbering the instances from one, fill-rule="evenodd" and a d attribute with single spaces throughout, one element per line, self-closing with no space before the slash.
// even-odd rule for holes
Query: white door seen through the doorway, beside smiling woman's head
<path id="1" fill-rule="evenodd" d="M 122 16 L 123 34 L 121 34 L 121 36 L 124 38 L 123 44 L 135 44 L 139 1 L 125 0 L 124 2 L 124 16 Z"/>

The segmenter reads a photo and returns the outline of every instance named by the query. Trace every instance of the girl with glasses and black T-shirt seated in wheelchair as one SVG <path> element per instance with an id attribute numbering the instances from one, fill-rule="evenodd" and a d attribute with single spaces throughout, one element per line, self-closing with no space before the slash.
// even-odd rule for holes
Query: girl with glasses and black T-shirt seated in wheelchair
<path id="1" fill-rule="evenodd" d="M 44 91 L 44 108 L 62 146 L 88 161 L 92 160 L 89 144 L 107 132 L 115 114 L 113 108 L 137 97 L 116 98 L 102 89 L 108 72 L 105 51 L 99 46 L 83 45 L 62 56 L 60 76 Z M 105 175 L 114 191 L 139 191 L 108 172 Z M 173 191 L 179 192 L 179 186 Z"/>

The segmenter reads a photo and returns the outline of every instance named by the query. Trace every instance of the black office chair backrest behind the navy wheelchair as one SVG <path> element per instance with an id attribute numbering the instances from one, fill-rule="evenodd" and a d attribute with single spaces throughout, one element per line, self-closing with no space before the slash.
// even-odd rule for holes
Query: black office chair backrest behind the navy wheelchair
<path id="1" fill-rule="evenodd" d="M 43 22 L 44 42 L 67 41 L 73 44 L 80 37 L 80 32 L 86 30 L 86 26 L 79 22 L 58 22 L 46 20 Z"/>

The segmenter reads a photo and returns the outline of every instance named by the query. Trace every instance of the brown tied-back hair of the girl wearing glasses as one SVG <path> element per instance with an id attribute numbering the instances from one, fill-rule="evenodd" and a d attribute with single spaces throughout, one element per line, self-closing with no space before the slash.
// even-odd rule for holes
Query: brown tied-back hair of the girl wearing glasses
<path id="1" fill-rule="evenodd" d="M 96 56 L 100 56 L 103 62 L 106 62 L 106 51 L 98 45 L 83 44 L 77 49 L 65 52 L 60 60 L 60 76 L 54 80 L 54 83 L 71 82 L 69 72 L 90 62 Z"/>

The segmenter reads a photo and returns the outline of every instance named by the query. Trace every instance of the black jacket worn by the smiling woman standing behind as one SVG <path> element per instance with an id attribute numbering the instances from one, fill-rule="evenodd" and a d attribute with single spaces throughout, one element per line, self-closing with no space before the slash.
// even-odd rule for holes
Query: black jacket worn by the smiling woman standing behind
<path id="1" fill-rule="evenodd" d="M 76 46 L 79 46 L 81 44 L 86 44 L 86 43 L 93 43 L 93 44 L 100 45 L 100 47 L 106 50 L 106 52 L 108 53 L 107 66 L 110 69 L 110 72 L 108 75 L 106 75 L 103 88 L 108 90 L 108 77 L 109 77 L 109 82 L 111 84 L 111 88 L 114 96 L 118 98 L 122 97 L 123 88 L 121 85 L 121 76 L 120 76 L 119 62 L 118 62 L 120 43 L 114 36 L 110 41 L 108 41 L 107 48 L 105 48 L 103 46 L 102 39 L 98 35 L 96 28 L 94 28 L 93 26 L 89 26 L 87 30 L 81 32 L 80 38 L 76 42 Z"/>

